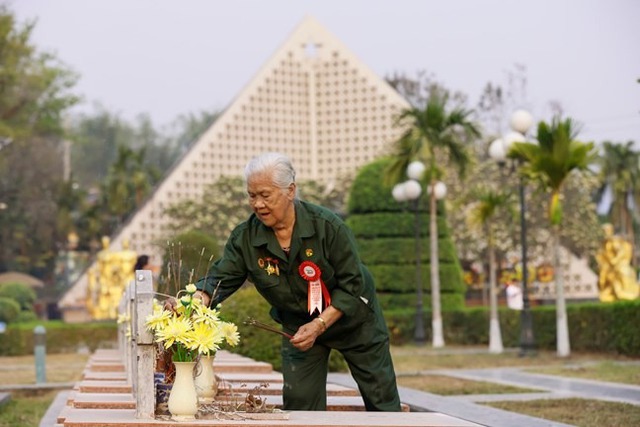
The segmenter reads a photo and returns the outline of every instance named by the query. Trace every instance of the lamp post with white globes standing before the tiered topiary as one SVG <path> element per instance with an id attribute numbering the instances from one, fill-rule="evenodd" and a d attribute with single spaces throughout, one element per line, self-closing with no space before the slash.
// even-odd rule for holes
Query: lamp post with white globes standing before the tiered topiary
<path id="1" fill-rule="evenodd" d="M 424 344 L 424 310 L 423 310 L 423 289 L 422 289 L 422 239 L 420 238 L 420 196 L 422 194 L 422 186 L 419 180 L 424 175 L 426 167 L 420 161 L 413 161 L 407 167 L 407 176 L 409 179 L 400 184 L 396 184 L 392 190 L 392 196 L 397 202 L 412 202 L 414 209 L 414 235 L 415 235 L 415 252 L 416 252 L 416 328 L 414 331 L 414 340 L 417 344 Z M 434 185 L 434 194 L 437 199 L 441 199 L 446 194 L 446 186 L 442 182 Z M 429 194 L 431 188 L 428 189 Z M 433 323 L 434 325 L 442 325 L 440 314 L 440 296 L 437 295 L 437 303 L 432 295 Z M 437 320 L 437 321 L 436 321 Z M 435 331 L 434 331 L 434 335 Z M 438 334 L 441 336 L 442 334 Z M 440 340 L 440 339 L 439 339 Z"/>

